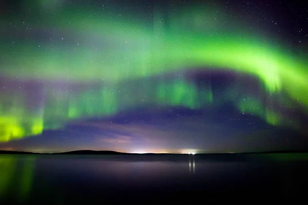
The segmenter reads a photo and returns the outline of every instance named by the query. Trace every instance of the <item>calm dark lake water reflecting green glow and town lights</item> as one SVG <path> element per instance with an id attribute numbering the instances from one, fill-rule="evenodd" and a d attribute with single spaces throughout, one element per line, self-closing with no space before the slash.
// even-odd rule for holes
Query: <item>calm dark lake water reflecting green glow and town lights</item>
<path id="1" fill-rule="evenodd" d="M 0 155 L 0 204 L 294 201 L 307 174 L 308 154 Z"/>

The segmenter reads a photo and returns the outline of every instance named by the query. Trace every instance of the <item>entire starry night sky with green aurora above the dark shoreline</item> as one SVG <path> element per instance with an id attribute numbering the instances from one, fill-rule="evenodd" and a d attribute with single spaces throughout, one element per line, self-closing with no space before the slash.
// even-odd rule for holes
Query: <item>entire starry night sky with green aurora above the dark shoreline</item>
<path id="1" fill-rule="evenodd" d="M 0 150 L 308 149 L 308 3 L 0 3 Z"/>

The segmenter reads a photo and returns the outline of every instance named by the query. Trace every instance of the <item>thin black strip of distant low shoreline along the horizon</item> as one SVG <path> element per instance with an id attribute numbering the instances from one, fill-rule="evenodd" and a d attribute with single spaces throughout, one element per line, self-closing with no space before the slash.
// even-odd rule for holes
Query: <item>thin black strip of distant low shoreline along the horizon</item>
<path id="1" fill-rule="evenodd" d="M 286 150 L 286 151 L 269 151 L 269 152 L 238 152 L 238 153 L 196 153 L 196 155 L 221 155 L 221 154 L 283 154 L 283 153 L 308 153 L 306 150 Z M 125 153 L 115 151 L 94 151 L 94 150 L 77 150 L 59 153 L 36 153 L 22 151 L 1 151 L 0 154 L 38 154 L 38 155 L 188 155 L 188 153 Z"/>

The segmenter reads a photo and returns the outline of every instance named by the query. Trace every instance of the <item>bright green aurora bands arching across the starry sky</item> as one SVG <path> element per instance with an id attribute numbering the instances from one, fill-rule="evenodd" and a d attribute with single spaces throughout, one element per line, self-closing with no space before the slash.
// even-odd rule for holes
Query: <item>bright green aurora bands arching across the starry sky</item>
<path id="1" fill-rule="evenodd" d="M 308 113 L 308 68 L 303 62 L 280 45 L 261 43 L 263 39 L 252 37 L 242 28 L 226 32 L 212 22 L 207 26 L 214 30 L 202 32 L 202 12 L 180 11 L 173 15 L 177 17 L 168 19 L 168 27 L 159 12 L 152 25 L 133 22 L 127 16 L 111 18 L 108 12 L 98 10 L 91 16 L 86 11 L 76 15 L 68 10 L 66 14 L 58 14 L 56 22 L 48 16 L 44 23 L 33 20 L 33 27 L 44 24 L 69 31 L 76 42 L 65 43 L 64 35 L 64 43 L 52 45 L 47 52 L 43 50 L 48 48 L 44 43 L 20 43 L 11 52 L 11 45 L 1 42 L 4 46 L 0 74 L 14 80 L 96 82 L 99 89 L 70 91 L 66 87 L 54 89 L 45 85 L 44 105 L 35 112 L 23 104 L 26 93 L 2 93 L 12 106 L 6 109 L 0 101 L 0 142 L 59 129 L 72 119 L 110 116 L 142 105 L 200 109 L 215 100 L 210 88 L 200 91 L 184 78 L 147 80 L 198 69 L 249 73 L 264 84 L 267 95 L 286 93 Z M 211 13 L 210 9 L 208 12 Z M 187 13 L 195 19 L 193 29 L 183 24 Z M 133 84 L 142 79 L 147 80 L 142 88 Z M 127 82 L 133 86 L 130 88 Z M 237 107 L 258 115 L 268 124 L 280 125 L 284 119 L 271 104 L 266 101 L 263 105 L 256 96 L 245 105 L 239 101 Z M 281 104 L 287 107 L 286 101 Z"/>

